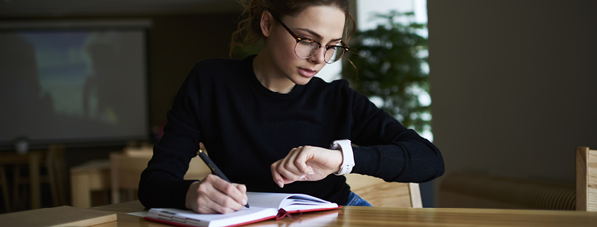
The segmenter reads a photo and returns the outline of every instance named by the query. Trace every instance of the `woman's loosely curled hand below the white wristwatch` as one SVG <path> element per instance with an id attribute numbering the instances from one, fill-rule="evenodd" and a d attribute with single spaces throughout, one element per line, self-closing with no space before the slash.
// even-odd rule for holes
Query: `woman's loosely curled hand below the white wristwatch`
<path id="1" fill-rule="evenodd" d="M 292 149 L 285 158 L 273 163 L 270 168 L 274 182 L 279 187 L 297 180 L 322 180 L 340 171 L 342 151 L 323 149 L 317 146 L 299 146 Z"/>

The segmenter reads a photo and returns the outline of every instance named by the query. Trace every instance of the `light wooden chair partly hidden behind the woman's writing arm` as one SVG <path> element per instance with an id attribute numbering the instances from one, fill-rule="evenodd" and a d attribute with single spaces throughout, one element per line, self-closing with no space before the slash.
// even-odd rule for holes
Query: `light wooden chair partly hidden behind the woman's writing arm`
<path id="1" fill-rule="evenodd" d="M 146 151 L 143 152 L 142 150 Z M 110 153 L 110 185 L 112 187 L 112 204 L 127 202 L 137 199 L 141 172 L 153 156 L 153 150 L 148 148 L 124 149 L 124 152 Z M 189 170 L 185 175 L 186 180 L 202 180 L 209 175 L 211 170 L 196 156 L 191 159 Z M 121 194 L 121 190 L 125 193 Z M 126 199 L 121 199 L 125 195 Z"/>

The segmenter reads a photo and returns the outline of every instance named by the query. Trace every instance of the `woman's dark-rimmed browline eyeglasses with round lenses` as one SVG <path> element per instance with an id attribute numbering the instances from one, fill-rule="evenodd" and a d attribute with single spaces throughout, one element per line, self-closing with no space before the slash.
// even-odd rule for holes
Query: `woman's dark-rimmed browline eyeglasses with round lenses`
<path id="1" fill-rule="evenodd" d="M 300 57 L 301 59 L 308 59 L 312 57 L 321 47 L 321 44 L 315 40 L 294 34 L 292 30 L 286 27 L 284 22 L 282 22 L 277 16 L 274 16 L 274 18 L 276 18 L 276 21 L 278 21 L 280 25 L 282 25 L 282 27 L 284 27 L 284 29 L 286 29 L 288 33 L 294 37 L 294 39 L 296 39 L 296 45 L 294 45 L 294 54 L 296 54 L 297 57 Z M 332 64 L 337 60 L 340 60 L 342 55 L 344 55 L 344 52 L 350 50 L 350 47 L 344 44 L 344 42 L 340 41 L 340 44 L 342 44 L 342 46 L 323 46 L 325 47 L 325 50 L 323 50 L 323 60 L 325 63 Z"/>

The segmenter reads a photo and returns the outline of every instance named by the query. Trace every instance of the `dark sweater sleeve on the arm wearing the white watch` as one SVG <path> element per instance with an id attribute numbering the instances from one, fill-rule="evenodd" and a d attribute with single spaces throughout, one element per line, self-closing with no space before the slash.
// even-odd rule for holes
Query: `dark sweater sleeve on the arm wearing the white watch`
<path id="1" fill-rule="evenodd" d="M 427 182 L 444 174 L 444 158 L 434 144 L 348 88 L 352 108 L 355 166 L 352 173 L 388 182 Z"/>

